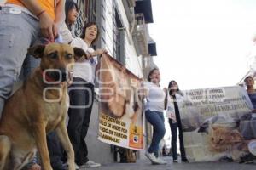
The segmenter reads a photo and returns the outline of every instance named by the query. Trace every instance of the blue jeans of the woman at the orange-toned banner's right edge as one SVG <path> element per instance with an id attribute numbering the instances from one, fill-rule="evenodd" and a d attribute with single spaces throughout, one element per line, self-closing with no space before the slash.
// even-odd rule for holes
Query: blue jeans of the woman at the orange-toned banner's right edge
<path id="1" fill-rule="evenodd" d="M 148 152 L 157 153 L 160 140 L 164 138 L 166 133 L 164 114 L 160 111 L 147 110 L 145 115 L 148 122 L 153 126 L 153 137 Z"/>

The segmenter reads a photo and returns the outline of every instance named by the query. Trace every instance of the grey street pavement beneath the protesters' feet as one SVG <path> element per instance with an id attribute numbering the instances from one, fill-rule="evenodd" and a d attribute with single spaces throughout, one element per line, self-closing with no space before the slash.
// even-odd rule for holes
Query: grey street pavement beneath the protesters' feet
<path id="1" fill-rule="evenodd" d="M 110 163 L 102 167 L 86 168 L 86 170 L 253 170 L 256 164 L 239 164 L 236 162 L 203 162 L 203 163 L 172 163 L 172 157 L 163 157 L 167 165 L 151 165 L 144 159 L 136 163 Z M 85 169 L 81 169 L 85 170 Z"/>

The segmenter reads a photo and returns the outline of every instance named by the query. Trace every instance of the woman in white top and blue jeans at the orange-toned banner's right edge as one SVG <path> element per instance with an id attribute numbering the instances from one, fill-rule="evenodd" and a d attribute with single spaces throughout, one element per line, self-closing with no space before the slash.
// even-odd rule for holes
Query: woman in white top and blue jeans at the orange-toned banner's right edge
<path id="1" fill-rule="evenodd" d="M 166 161 L 155 157 L 158 153 L 160 140 L 163 139 L 165 129 L 165 101 L 166 90 L 160 88 L 160 71 L 157 68 L 149 71 L 148 82 L 144 82 L 146 88 L 146 104 L 145 116 L 148 122 L 153 126 L 153 137 L 151 144 L 146 151 L 145 156 L 152 162 L 152 164 L 166 164 Z"/>

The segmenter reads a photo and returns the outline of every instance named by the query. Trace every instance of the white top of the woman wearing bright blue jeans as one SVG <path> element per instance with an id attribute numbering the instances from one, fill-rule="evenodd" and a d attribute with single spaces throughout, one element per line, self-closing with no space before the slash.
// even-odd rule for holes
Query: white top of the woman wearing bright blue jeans
<path id="1" fill-rule="evenodd" d="M 166 93 L 159 86 L 153 82 L 144 82 L 144 88 L 148 89 L 148 95 L 146 97 L 145 109 L 150 111 L 160 111 L 165 110 L 165 98 Z"/>

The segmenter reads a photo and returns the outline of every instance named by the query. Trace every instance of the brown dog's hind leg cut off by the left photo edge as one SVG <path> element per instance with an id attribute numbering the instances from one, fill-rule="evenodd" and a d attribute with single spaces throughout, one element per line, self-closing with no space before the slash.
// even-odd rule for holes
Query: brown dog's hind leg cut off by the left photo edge
<path id="1" fill-rule="evenodd" d="M 0 170 L 8 165 L 11 142 L 8 136 L 0 135 Z"/>

